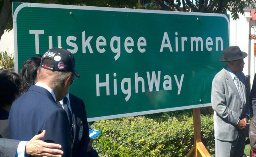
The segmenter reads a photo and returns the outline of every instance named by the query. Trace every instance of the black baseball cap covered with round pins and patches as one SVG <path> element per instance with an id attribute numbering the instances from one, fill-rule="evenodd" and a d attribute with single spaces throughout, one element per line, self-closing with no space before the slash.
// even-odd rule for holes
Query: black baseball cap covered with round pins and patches
<path id="1" fill-rule="evenodd" d="M 73 72 L 74 75 L 80 77 L 75 70 L 75 58 L 73 54 L 61 47 L 51 48 L 46 51 L 42 56 L 41 66 L 51 71 Z"/>

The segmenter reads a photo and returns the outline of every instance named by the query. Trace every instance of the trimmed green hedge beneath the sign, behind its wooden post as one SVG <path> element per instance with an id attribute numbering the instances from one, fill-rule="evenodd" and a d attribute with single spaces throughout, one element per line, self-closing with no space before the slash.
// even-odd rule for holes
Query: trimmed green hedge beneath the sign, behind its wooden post
<path id="1" fill-rule="evenodd" d="M 164 119 L 164 118 L 163 118 Z M 182 120 L 180 120 L 182 119 Z M 193 146 L 193 118 L 169 117 L 159 122 L 145 116 L 96 121 L 102 131 L 94 141 L 100 156 L 185 156 Z M 211 116 L 201 116 L 202 142 L 214 154 L 214 125 Z"/>

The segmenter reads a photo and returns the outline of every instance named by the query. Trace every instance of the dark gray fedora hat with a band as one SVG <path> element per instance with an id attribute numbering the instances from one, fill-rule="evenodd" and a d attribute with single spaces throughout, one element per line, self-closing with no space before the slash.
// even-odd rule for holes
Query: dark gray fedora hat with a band
<path id="1" fill-rule="evenodd" d="M 223 56 L 220 58 L 222 62 L 236 61 L 247 56 L 246 52 L 242 52 L 238 46 L 230 46 L 223 50 Z"/>

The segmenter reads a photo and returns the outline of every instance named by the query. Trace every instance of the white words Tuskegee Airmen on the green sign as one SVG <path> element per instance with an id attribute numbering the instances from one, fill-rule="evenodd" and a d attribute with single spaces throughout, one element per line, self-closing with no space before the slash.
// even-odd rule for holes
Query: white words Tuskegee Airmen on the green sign
<path id="1" fill-rule="evenodd" d="M 40 44 L 40 36 L 45 34 L 44 30 L 29 30 L 29 34 L 34 34 L 35 36 L 35 53 L 39 54 L 39 44 Z M 121 37 L 120 36 L 113 36 L 110 41 L 107 42 L 106 38 L 104 36 L 98 36 L 95 43 L 92 45 L 95 45 L 95 48 L 92 48 L 91 42 L 94 36 L 88 36 L 86 38 L 86 31 L 82 32 L 82 45 L 77 45 L 77 37 L 75 36 L 67 36 L 66 38 L 66 44 L 73 49 L 67 49 L 70 52 L 77 53 L 79 48 L 82 50 L 82 53 L 86 53 L 86 48 L 89 50 L 90 54 L 93 54 L 93 50 L 98 51 L 98 53 L 104 53 L 106 52 L 106 47 L 109 42 L 110 49 L 113 53 L 115 53 L 114 60 L 118 60 L 121 55 L 121 47 L 123 46 L 125 51 L 127 53 L 132 53 L 134 52 L 134 49 L 137 49 L 137 52 L 140 53 L 145 53 L 146 52 L 146 46 L 147 46 L 147 41 L 146 39 L 141 36 L 138 39 L 136 39 L 137 42 L 134 42 L 134 39 L 130 36 L 125 37 L 124 43 L 121 43 Z M 202 37 L 186 37 L 186 36 L 178 36 L 178 32 L 175 32 L 171 36 L 172 38 L 175 38 L 175 42 L 171 43 L 170 42 L 170 37 L 167 32 L 164 32 L 163 38 L 161 39 L 161 45 L 159 45 L 159 52 L 163 52 L 164 50 L 168 52 L 173 52 L 173 47 L 172 45 L 175 45 L 175 52 L 184 52 L 185 47 L 189 46 L 189 49 L 191 52 L 193 51 L 204 51 L 204 44 L 207 49 L 207 51 L 212 51 L 215 50 L 223 50 L 223 39 L 221 37 L 215 37 L 215 40 L 213 40 L 211 37 L 207 37 L 206 39 L 202 39 Z M 56 38 L 56 37 L 55 37 Z M 58 40 L 58 47 L 61 46 L 61 41 L 64 37 L 63 36 L 57 36 Z M 53 36 L 48 36 L 49 39 L 49 49 L 53 47 L 52 45 L 52 39 Z M 160 40 L 160 39 L 159 39 Z M 189 41 L 190 40 L 190 41 Z M 134 48 L 135 43 L 137 44 L 137 47 Z M 179 44 L 180 43 L 180 44 Z M 179 48 L 179 45 L 181 45 L 181 48 Z M 215 45 L 215 46 L 214 46 Z"/>

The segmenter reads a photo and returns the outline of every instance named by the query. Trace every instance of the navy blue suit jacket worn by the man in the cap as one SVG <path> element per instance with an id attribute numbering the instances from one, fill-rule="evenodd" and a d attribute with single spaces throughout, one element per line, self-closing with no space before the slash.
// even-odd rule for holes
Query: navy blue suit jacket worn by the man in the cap
<path id="1" fill-rule="evenodd" d="M 70 125 L 66 112 L 57 105 L 45 88 L 32 85 L 29 91 L 13 102 L 9 114 L 9 131 L 12 139 L 29 141 L 46 130 L 42 139 L 58 143 L 63 157 L 71 157 Z"/>

